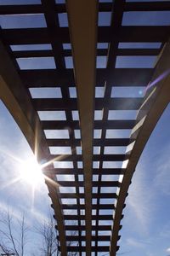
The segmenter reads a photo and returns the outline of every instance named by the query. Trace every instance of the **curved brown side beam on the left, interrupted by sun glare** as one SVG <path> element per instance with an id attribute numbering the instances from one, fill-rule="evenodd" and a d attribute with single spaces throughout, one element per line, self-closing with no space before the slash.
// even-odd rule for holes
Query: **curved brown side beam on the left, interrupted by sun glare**
<path id="1" fill-rule="evenodd" d="M 32 151 L 37 154 L 37 160 L 39 162 L 48 160 L 48 145 L 40 120 L 31 106 L 26 89 L 21 83 L 20 76 L 2 42 L 0 42 L 0 98 L 13 115 Z M 46 183 L 58 222 L 61 253 L 66 256 L 65 228 L 59 197 L 55 185 L 51 185 L 48 181 Z"/>

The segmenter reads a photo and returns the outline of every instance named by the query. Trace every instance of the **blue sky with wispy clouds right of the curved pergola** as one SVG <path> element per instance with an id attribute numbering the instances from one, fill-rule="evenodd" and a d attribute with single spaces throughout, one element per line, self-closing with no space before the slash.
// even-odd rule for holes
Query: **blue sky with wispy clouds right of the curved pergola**
<path id="1" fill-rule="evenodd" d="M 120 253 L 170 253 L 169 119 L 170 105 L 156 125 L 134 173 L 122 220 Z"/>

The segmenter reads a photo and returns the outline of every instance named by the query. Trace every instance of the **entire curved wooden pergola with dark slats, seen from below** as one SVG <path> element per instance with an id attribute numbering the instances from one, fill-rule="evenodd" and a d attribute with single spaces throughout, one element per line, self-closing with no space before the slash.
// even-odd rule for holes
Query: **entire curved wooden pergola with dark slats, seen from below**
<path id="1" fill-rule="evenodd" d="M 170 1 L 15 2 L 0 6 L 0 97 L 48 162 L 59 250 L 115 256 L 133 172 L 170 100 L 170 26 L 138 13 L 159 20 Z"/>

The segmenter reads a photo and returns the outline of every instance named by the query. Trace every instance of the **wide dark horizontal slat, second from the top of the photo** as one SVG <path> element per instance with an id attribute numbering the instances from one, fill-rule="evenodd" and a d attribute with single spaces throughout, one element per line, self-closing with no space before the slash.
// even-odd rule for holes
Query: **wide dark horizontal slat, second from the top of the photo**
<path id="1" fill-rule="evenodd" d="M 68 27 L 55 27 L 54 40 L 70 43 Z M 169 26 L 122 26 L 120 42 L 166 42 Z M 114 33 L 110 26 L 99 27 L 98 42 L 111 42 Z M 3 29 L 2 37 L 7 44 L 50 44 L 47 28 Z"/>

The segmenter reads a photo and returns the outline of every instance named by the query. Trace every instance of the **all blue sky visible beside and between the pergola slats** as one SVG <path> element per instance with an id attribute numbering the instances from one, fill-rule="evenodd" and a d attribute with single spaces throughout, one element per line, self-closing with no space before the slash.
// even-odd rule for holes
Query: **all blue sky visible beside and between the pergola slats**
<path id="1" fill-rule="evenodd" d="M 0 0 L 0 4 L 10 3 L 40 3 L 39 0 Z M 111 1 L 100 1 L 111 2 Z M 141 2 L 128 0 L 127 2 Z M 153 1 L 143 1 L 153 2 Z M 63 3 L 62 0 L 56 0 L 56 3 Z M 170 24 L 170 12 L 127 12 L 123 15 L 122 26 L 168 26 Z M 3 28 L 11 27 L 45 27 L 46 21 L 43 15 L 14 15 L 1 16 L 0 25 Z M 68 26 L 65 15 L 59 15 L 59 25 Z M 99 14 L 99 26 L 111 25 L 111 13 Z M 120 43 L 120 49 L 137 49 L 137 48 L 160 48 L 161 42 L 151 43 Z M 70 44 L 63 45 L 64 49 L 70 49 Z M 50 44 L 43 45 L 13 45 L 13 50 L 26 49 L 51 49 Z M 98 44 L 98 48 L 107 49 L 108 44 Z M 54 58 L 31 58 L 18 59 L 21 69 L 33 68 L 55 68 Z M 116 58 L 116 68 L 127 67 L 154 67 L 156 56 L 118 56 Z M 71 57 L 65 58 L 66 68 L 72 68 Z M 97 68 L 105 68 L 106 56 L 97 56 Z M 143 96 L 144 88 L 141 87 L 116 87 L 111 92 L 111 97 L 141 97 Z M 55 95 L 55 96 L 54 96 Z M 61 97 L 59 87 L 51 89 L 31 89 L 31 96 L 37 97 Z M 104 96 L 104 87 L 96 87 L 96 97 Z M 70 97 L 75 98 L 76 90 L 70 87 Z M 39 112 L 40 119 L 65 119 L 63 112 Z M 77 111 L 72 112 L 73 119 L 79 119 Z M 135 119 L 136 111 L 127 113 L 120 111 L 110 111 L 109 119 Z M 102 119 L 102 111 L 95 112 L 95 119 Z M 133 176 L 133 183 L 129 189 L 127 197 L 127 207 L 124 210 L 124 218 L 122 219 L 122 235 L 119 245 L 120 251 L 117 255 L 125 254 L 131 256 L 167 256 L 170 255 L 170 179 L 169 175 L 169 151 L 170 141 L 168 120 L 170 119 L 170 106 L 163 113 L 156 129 L 152 133 L 149 142 L 144 148 L 144 152 L 139 160 L 136 172 Z M 106 137 L 111 137 L 113 131 L 107 131 Z M 114 131 L 114 137 L 127 137 L 129 131 Z M 122 134 L 121 134 L 122 132 Z M 99 131 L 95 131 L 95 137 L 99 137 Z M 49 134 L 46 131 L 46 137 L 59 137 L 61 134 Z M 68 134 L 62 135 L 67 138 Z M 79 137 L 79 131 L 75 131 L 75 136 Z M 35 193 L 33 193 L 31 185 L 24 180 L 17 180 L 20 176 L 20 165 L 16 159 L 27 160 L 31 158 L 32 153 L 25 137 L 23 137 L 20 129 L 15 124 L 14 119 L 8 113 L 8 110 L 0 102 L 0 207 L 14 212 L 14 216 L 20 216 L 22 212 L 26 215 L 27 223 L 33 227 L 35 224 L 41 223 L 48 216 L 48 206 L 50 201 L 48 198 L 48 190 L 43 182 L 43 179 L 38 184 Z M 58 148 L 59 149 L 59 148 Z M 52 154 L 56 153 L 57 148 L 50 148 Z M 60 148 L 61 149 L 61 148 Z M 65 148 L 70 153 L 70 148 Z M 99 154 L 99 148 L 94 148 Z M 125 148 L 119 148 L 119 153 L 124 152 Z M 111 154 L 111 148 L 105 148 L 106 154 Z M 63 152 L 62 152 L 63 153 Z M 81 148 L 77 147 L 77 154 L 81 154 Z M 96 153 L 97 154 L 97 153 Z M 114 163 L 117 167 L 117 163 Z M 56 162 L 55 166 L 64 166 L 65 162 Z M 69 162 L 66 163 L 67 167 Z M 94 163 L 94 166 L 97 163 Z M 110 163 L 112 166 L 113 163 Z M 79 162 L 79 167 L 82 163 Z M 104 167 L 108 166 L 108 162 L 104 163 Z M 121 167 L 121 166 L 120 166 Z M 60 177 L 61 179 L 63 177 Z M 69 179 L 74 177 L 69 177 Z M 80 177 L 81 178 L 81 177 Z M 108 177 L 105 177 L 108 179 Z M 111 177 L 109 177 L 111 179 Z M 114 177 L 116 178 L 116 177 Z M 61 188 L 61 190 L 65 188 Z M 63 201 L 64 202 L 64 201 Z M 72 202 L 72 201 L 71 201 Z M 34 243 L 38 243 L 38 236 L 32 236 Z M 37 241 L 37 242 L 35 242 Z M 29 247 L 28 247 L 29 248 Z M 30 255 L 30 251 L 28 255 Z"/>

